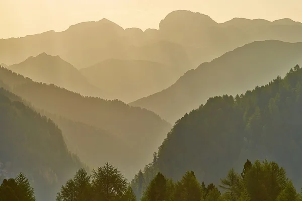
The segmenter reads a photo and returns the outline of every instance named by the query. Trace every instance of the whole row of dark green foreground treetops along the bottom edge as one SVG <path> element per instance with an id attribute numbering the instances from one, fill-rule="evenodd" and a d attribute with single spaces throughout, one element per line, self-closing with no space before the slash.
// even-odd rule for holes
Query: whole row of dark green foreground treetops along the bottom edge
<path id="1" fill-rule="evenodd" d="M 143 178 L 132 187 L 118 168 L 106 163 L 90 174 L 80 168 L 61 186 L 56 201 L 301 201 L 302 194 L 294 188 L 285 169 L 276 162 L 247 160 L 242 172 L 231 168 L 218 185 L 200 183 L 194 171 L 187 171 L 174 182 L 158 172 L 146 185 Z M 141 195 L 137 190 L 143 190 Z M 35 201 L 34 188 L 20 173 L 16 179 L 4 179 L 0 200 Z"/>

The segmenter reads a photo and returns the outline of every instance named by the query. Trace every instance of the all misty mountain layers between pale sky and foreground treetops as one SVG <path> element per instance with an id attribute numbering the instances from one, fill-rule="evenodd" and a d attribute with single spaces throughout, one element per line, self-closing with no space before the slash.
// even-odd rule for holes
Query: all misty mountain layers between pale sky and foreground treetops
<path id="1" fill-rule="evenodd" d="M 0 63 L 0 182 L 22 171 L 39 200 L 106 162 L 136 198 L 158 172 L 217 184 L 247 158 L 301 175 L 288 157 L 302 153 L 300 22 L 179 10 L 142 31 L 102 19 L 1 39 Z"/>

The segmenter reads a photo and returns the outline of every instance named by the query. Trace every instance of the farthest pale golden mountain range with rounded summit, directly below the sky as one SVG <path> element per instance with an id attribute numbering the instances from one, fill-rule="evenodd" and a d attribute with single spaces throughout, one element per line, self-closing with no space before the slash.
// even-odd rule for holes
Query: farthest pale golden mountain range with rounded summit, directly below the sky
<path id="1" fill-rule="evenodd" d="M 253 41 L 302 42 L 302 24 L 290 19 L 269 22 L 235 18 L 219 24 L 200 13 L 174 11 L 159 27 L 143 32 L 102 19 L 72 25 L 63 32 L 3 39 L 0 61 L 19 63 L 46 52 L 59 55 L 76 68 L 107 59 L 129 59 L 160 62 L 185 72 Z"/>

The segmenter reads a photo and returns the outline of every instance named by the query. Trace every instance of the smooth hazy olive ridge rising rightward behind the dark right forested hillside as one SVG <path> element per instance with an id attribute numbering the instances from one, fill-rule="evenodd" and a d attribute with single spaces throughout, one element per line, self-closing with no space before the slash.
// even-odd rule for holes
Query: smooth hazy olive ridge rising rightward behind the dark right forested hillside
<path id="1" fill-rule="evenodd" d="M 186 72 L 172 86 L 130 103 L 175 122 L 208 97 L 237 94 L 262 85 L 302 61 L 302 43 L 256 41 Z"/>

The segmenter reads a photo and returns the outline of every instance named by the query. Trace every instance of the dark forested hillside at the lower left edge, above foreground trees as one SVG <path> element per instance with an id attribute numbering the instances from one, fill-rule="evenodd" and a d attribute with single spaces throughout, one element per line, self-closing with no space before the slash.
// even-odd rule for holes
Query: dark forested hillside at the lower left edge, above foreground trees
<path id="1" fill-rule="evenodd" d="M 1 176 L 24 172 L 38 200 L 53 200 L 60 185 L 83 164 L 67 150 L 62 132 L 52 120 L 4 88 L 0 88 L 0 111 Z"/>

